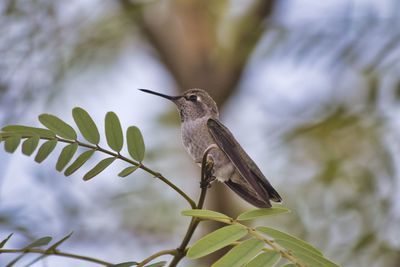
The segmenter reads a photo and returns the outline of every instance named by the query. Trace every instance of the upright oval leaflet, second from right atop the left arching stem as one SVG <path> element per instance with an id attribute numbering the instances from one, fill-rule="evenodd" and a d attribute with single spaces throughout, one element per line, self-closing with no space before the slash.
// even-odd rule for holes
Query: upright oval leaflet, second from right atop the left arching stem
<path id="1" fill-rule="evenodd" d="M 124 145 L 124 135 L 122 133 L 121 123 L 114 112 L 108 112 L 105 118 L 105 130 L 107 144 L 112 150 L 120 152 Z"/>

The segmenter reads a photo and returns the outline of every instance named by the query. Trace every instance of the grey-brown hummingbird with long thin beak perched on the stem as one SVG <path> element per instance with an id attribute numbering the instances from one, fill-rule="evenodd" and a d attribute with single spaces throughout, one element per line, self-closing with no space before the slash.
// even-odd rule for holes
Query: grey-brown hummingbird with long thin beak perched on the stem
<path id="1" fill-rule="evenodd" d="M 166 98 L 177 106 L 183 145 L 195 163 L 201 166 L 205 151 L 215 147 L 208 154 L 213 162 L 214 179 L 258 208 L 272 207 L 270 200 L 282 201 L 256 163 L 220 122 L 217 104 L 206 91 L 189 89 L 182 95 L 169 96 L 148 89 L 139 90 Z"/>

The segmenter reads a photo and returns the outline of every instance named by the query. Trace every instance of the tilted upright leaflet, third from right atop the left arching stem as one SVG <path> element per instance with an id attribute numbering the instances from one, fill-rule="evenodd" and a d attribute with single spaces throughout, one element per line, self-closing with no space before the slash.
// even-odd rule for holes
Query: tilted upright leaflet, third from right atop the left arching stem
<path id="1" fill-rule="evenodd" d="M 76 125 L 81 131 L 83 137 L 92 144 L 99 144 L 100 134 L 96 124 L 90 117 L 89 113 L 83 108 L 76 107 L 72 110 L 72 117 L 75 120 Z"/>

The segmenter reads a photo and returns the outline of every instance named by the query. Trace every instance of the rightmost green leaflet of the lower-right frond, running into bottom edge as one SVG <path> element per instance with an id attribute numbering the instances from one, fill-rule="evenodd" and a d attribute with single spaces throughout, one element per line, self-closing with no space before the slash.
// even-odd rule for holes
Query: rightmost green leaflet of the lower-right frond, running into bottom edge
<path id="1" fill-rule="evenodd" d="M 312 250 L 308 250 L 299 243 L 280 239 L 275 239 L 275 242 L 280 246 L 290 250 L 291 253 L 296 256 L 296 258 L 299 258 L 309 267 L 339 267 L 339 265 L 324 258 L 321 254 L 315 253 Z"/>

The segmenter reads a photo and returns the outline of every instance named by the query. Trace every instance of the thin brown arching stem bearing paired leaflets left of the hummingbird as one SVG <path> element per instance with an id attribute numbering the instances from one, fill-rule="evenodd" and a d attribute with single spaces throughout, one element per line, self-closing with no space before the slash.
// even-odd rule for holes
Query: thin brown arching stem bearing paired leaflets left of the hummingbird
<path id="1" fill-rule="evenodd" d="M 3 134 L 4 134 L 4 133 L 3 133 Z M 11 135 L 10 135 L 10 136 L 11 136 Z M 6 136 L 5 136 L 5 137 L 6 137 Z M 30 136 L 22 136 L 22 138 L 29 138 L 29 137 L 30 137 Z M 192 209 L 195 209 L 195 208 L 196 208 L 196 203 L 194 202 L 194 200 L 191 199 L 185 192 L 183 192 L 182 189 L 180 189 L 178 186 L 176 186 L 176 185 L 175 185 L 174 183 L 172 183 L 170 180 L 168 180 L 167 178 L 165 178 L 161 173 L 156 172 L 156 171 L 150 169 L 149 167 L 143 165 L 143 164 L 140 163 L 140 162 L 136 162 L 136 161 L 133 161 L 133 160 L 127 158 L 127 157 L 124 157 L 124 156 L 122 156 L 120 153 L 115 153 L 115 152 L 109 151 L 109 150 L 107 150 L 107 149 L 104 149 L 104 148 L 100 147 L 99 145 L 96 146 L 96 145 L 90 145 L 90 144 L 82 143 L 82 142 L 80 142 L 80 141 L 78 141 L 78 140 L 68 140 L 68 139 L 64 139 L 64 138 L 60 138 L 60 137 L 51 138 L 51 137 L 44 137 L 44 136 L 40 136 L 40 139 L 44 139 L 44 140 L 54 140 L 54 139 L 56 139 L 58 142 L 63 142 L 63 143 L 68 143 L 68 144 L 76 143 L 76 144 L 78 144 L 79 146 L 82 146 L 82 147 L 86 147 L 86 148 L 90 148 L 90 149 L 93 149 L 93 150 L 97 150 L 97 151 L 103 152 L 103 153 L 105 153 L 105 154 L 108 154 L 108 155 L 113 156 L 113 157 L 115 157 L 115 158 L 118 158 L 118 159 L 120 159 L 120 160 L 123 160 L 123 161 L 125 161 L 125 162 L 127 162 L 127 163 L 129 163 L 129 164 L 132 164 L 132 165 L 134 165 L 134 166 L 138 166 L 140 169 L 142 169 L 142 170 L 144 170 L 145 172 L 147 172 L 147 173 L 153 175 L 154 177 L 160 179 L 160 180 L 161 180 L 162 182 L 164 182 L 166 185 L 168 185 L 169 187 L 171 187 L 175 192 L 177 192 L 179 195 L 181 195 L 181 196 L 189 203 L 189 205 L 190 205 L 190 207 L 191 207 Z"/>

